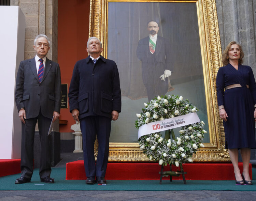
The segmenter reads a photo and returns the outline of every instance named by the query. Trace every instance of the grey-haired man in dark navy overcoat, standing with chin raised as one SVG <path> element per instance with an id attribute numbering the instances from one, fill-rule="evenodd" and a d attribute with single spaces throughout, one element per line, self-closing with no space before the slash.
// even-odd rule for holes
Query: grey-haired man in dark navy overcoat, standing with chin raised
<path id="1" fill-rule="evenodd" d="M 77 61 L 69 87 L 69 107 L 73 118 L 80 121 L 83 136 L 86 184 L 106 184 L 111 120 L 121 112 L 121 90 L 116 63 L 100 55 L 102 44 L 90 37 L 86 48 L 89 56 Z M 94 142 L 98 139 L 95 165 Z"/>

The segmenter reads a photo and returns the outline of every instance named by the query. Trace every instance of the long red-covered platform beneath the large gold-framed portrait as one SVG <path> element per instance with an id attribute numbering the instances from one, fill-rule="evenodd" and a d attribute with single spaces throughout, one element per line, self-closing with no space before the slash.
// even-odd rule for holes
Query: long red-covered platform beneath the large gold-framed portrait
<path id="1" fill-rule="evenodd" d="M 239 163 L 242 171 L 243 165 Z M 186 180 L 234 180 L 234 169 L 232 164 L 222 163 L 194 163 L 184 164 L 183 169 Z M 169 171 L 169 166 L 164 167 L 164 171 Z M 172 166 L 173 171 L 177 171 Z M 106 180 L 159 180 L 161 166 L 156 163 L 109 163 L 106 171 Z M 252 164 L 249 167 L 249 173 L 252 178 Z M 170 177 L 163 177 L 169 179 Z M 182 180 L 173 176 L 173 179 Z M 77 160 L 66 165 L 66 180 L 85 180 L 84 161 Z"/>

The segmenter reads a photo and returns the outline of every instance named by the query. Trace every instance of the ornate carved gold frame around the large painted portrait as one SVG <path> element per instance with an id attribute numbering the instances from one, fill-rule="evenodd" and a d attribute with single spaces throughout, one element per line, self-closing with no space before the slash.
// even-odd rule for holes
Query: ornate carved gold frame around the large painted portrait
<path id="1" fill-rule="evenodd" d="M 103 45 L 102 56 L 108 58 L 108 16 L 110 3 L 194 3 L 198 24 L 201 65 L 205 89 L 206 109 L 209 126 L 209 142 L 204 143 L 194 155 L 194 161 L 229 161 L 225 147 L 223 122 L 218 115 L 216 96 L 216 75 L 221 63 L 221 42 L 215 0 L 91 0 L 89 36 L 100 39 Z M 112 9 L 113 10 L 113 9 Z M 187 11 L 186 11 L 187 12 Z M 122 16 L 117 16 L 122 17 Z M 199 47 L 198 47 L 199 48 Z M 117 65 L 118 66 L 118 65 Z M 132 125 L 133 126 L 133 125 Z M 112 127 L 113 129 L 113 127 Z M 126 132 L 123 130 L 122 132 Z M 111 142 L 109 161 L 149 161 L 139 149 L 137 142 Z"/>

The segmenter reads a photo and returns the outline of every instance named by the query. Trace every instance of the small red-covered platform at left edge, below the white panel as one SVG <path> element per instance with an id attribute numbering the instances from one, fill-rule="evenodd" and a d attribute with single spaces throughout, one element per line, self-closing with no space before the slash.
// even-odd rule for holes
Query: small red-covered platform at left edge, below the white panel
<path id="1" fill-rule="evenodd" d="M 20 159 L 0 159 L 0 176 L 20 173 Z"/>

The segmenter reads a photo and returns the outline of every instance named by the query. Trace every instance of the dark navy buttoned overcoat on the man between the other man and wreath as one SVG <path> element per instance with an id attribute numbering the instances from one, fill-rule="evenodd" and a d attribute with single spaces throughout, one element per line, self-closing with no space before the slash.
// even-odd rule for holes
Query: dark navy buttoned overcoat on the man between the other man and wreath
<path id="1" fill-rule="evenodd" d="M 77 61 L 69 87 L 70 112 L 79 110 L 79 119 L 92 115 L 112 118 L 121 112 L 121 91 L 116 63 L 100 56 L 95 66 L 90 57 Z"/>

